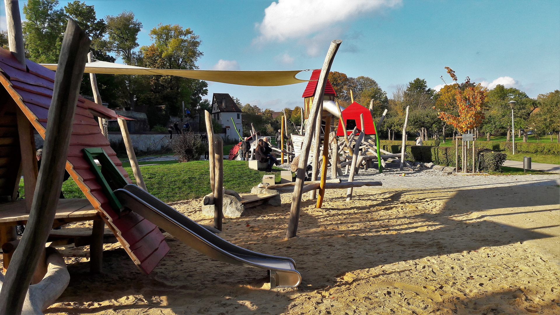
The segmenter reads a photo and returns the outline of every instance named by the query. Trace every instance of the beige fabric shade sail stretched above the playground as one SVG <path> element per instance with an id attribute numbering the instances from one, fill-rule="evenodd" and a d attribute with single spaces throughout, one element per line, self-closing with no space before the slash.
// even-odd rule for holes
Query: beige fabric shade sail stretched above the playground
<path id="1" fill-rule="evenodd" d="M 41 63 L 50 70 L 57 70 L 55 63 Z M 193 78 L 197 80 L 222 82 L 236 85 L 278 86 L 290 85 L 309 80 L 296 78 L 303 70 L 290 71 L 222 71 L 222 70 L 174 70 L 152 69 L 128 66 L 127 64 L 94 61 L 86 63 L 86 73 L 104 73 L 109 75 L 166 75 Z"/>

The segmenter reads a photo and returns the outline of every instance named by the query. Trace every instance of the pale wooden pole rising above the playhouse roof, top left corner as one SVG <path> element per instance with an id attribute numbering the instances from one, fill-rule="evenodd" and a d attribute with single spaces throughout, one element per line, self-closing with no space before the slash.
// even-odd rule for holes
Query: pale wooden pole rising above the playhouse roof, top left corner
<path id="1" fill-rule="evenodd" d="M 18 0 L 4 0 L 6 7 L 6 30 L 10 52 L 25 67 L 24 33 L 21 29 L 20 4 Z"/>

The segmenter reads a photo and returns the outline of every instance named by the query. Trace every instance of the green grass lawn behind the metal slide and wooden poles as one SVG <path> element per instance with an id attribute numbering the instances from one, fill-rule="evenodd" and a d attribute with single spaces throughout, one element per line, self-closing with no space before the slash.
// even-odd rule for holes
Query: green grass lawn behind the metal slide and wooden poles
<path id="1" fill-rule="evenodd" d="M 165 163 L 169 162 L 169 163 Z M 152 162 L 153 163 L 153 162 Z M 176 161 L 158 161 L 161 165 L 143 166 L 142 176 L 148 191 L 164 202 L 200 198 L 211 192 L 208 161 L 190 161 L 177 163 Z M 146 163 L 151 164 L 151 163 Z M 246 161 L 223 161 L 223 186 L 238 193 L 250 192 L 251 188 L 259 184 L 266 172 L 250 169 Z M 134 179 L 132 169 L 123 166 Z M 273 168 L 276 182 L 280 182 L 280 170 Z M 62 184 L 62 191 L 66 198 L 85 198 L 82 191 L 72 179 Z M 24 181 L 20 181 L 20 196 L 24 197 Z"/>

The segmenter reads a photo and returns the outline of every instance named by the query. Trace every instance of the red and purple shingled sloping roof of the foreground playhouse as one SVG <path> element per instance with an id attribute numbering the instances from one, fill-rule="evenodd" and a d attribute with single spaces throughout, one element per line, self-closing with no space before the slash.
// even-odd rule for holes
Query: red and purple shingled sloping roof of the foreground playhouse
<path id="1" fill-rule="evenodd" d="M 24 112 L 41 137 L 45 138 L 46 122 L 53 96 L 55 72 L 26 59 L 22 66 L 12 53 L 0 48 L 0 83 Z M 109 228 L 123 245 L 134 263 L 144 272 L 150 273 L 169 251 L 164 235 L 157 226 L 134 212 L 121 215 L 111 209 L 109 200 L 101 190 L 90 165 L 83 158 L 85 147 L 102 147 L 128 182 L 128 173 L 123 169 L 109 141 L 102 135 L 94 114 L 116 118 L 113 110 L 92 101 L 78 98 L 72 136 L 68 148 L 66 170 L 91 204 L 101 211 Z"/>

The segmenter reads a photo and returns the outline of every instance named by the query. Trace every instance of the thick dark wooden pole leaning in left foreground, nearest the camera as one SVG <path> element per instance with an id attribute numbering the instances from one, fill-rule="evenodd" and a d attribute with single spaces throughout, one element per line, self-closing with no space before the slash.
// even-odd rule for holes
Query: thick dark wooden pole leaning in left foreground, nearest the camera
<path id="1" fill-rule="evenodd" d="M 53 227 L 90 39 L 68 19 L 50 103 L 43 160 L 31 213 L 2 286 L 1 315 L 20 315 L 31 277 Z"/>

